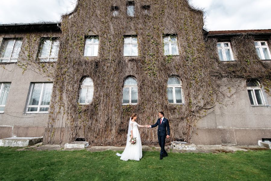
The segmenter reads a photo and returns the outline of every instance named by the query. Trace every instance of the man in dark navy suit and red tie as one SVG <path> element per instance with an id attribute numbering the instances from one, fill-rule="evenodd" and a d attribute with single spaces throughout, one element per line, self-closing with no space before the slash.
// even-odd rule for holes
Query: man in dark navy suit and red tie
<path id="1" fill-rule="evenodd" d="M 149 128 L 154 128 L 158 126 L 157 135 L 158 135 L 158 142 L 161 147 L 160 151 L 160 160 L 163 159 L 163 157 L 168 156 L 168 153 L 165 151 L 165 138 L 169 138 L 169 120 L 164 118 L 164 113 L 161 111 L 158 113 L 159 119 L 157 119 L 157 122 L 154 125 L 148 125 Z M 166 134 L 166 129 L 168 134 Z"/>

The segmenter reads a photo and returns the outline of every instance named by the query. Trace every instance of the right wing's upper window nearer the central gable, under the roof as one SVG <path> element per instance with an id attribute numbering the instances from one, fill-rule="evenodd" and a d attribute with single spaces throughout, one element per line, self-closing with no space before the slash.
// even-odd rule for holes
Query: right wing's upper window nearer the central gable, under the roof
<path id="1" fill-rule="evenodd" d="M 220 61 L 234 61 L 230 42 L 218 42 L 216 45 Z"/>

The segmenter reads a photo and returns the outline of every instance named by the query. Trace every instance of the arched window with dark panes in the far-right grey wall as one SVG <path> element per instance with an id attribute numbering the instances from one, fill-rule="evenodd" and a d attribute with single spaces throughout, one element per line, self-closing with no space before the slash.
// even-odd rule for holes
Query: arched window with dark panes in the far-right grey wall
<path id="1" fill-rule="evenodd" d="M 247 92 L 251 105 L 264 105 L 260 83 L 254 79 L 247 80 Z"/>

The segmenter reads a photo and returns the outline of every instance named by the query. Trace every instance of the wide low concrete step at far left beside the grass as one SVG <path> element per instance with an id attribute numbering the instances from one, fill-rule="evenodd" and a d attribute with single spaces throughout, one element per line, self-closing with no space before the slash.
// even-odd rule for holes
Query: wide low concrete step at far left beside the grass
<path id="1" fill-rule="evenodd" d="M 3 147 L 27 147 L 43 141 L 43 137 L 11 137 L 0 139 Z"/>

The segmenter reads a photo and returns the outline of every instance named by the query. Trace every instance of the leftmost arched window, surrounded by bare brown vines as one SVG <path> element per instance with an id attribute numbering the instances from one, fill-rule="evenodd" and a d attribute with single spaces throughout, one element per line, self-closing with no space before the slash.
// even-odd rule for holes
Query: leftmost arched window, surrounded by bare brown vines
<path id="1" fill-rule="evenodd" d="M 80 85 L 79 104 L 89 104 L 93 98 L 93 81 L 91 78 L 84 78 Z"/>

